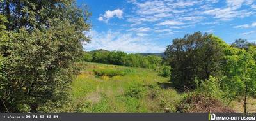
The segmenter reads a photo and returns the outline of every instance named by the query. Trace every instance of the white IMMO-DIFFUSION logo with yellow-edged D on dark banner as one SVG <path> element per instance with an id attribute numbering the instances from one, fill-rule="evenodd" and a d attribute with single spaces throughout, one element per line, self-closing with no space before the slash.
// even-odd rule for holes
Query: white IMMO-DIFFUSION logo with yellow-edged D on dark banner
<path id="1" fill-rule="evenodd" d="M 211 120 L 255 120 L 255 115 L 254 116 L 230 116 L 230 115 L 225 115 L 225 116 L 216 116 L 214 113 L 209 113 L 208 115 L 209 121 Z"/>

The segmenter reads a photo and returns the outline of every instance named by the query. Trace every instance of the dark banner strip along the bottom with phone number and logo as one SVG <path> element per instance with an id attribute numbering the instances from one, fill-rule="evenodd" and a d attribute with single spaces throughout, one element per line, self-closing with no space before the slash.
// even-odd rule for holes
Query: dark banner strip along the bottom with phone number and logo
<path id="1" fill-rule="evenodd" d="M 255 120 L 256 113 L 0 113 L 1 121 Z"/>

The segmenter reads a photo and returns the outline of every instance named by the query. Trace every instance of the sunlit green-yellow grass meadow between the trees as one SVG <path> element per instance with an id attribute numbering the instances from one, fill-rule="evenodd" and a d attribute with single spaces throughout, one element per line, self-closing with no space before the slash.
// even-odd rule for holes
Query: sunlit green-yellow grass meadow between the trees
<path id="1" fill-rule="evenodd" d="M 72 82 L 72 102 L 65 110 L 76 112 L 176 111 L 181 96 L 169 78 L 152 69 L 85 63 Z"/>

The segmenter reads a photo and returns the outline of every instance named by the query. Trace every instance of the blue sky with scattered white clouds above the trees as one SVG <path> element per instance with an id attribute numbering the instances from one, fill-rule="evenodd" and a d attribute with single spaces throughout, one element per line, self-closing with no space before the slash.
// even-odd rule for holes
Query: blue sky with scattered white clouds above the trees
<path id="1" fill-rule="evenodd" d="M 175 38 L 201 31 L 227 43 L 256 41 L 256 0 L 77 0 L 92 12 L 84 50 L 164 52 Z"/>

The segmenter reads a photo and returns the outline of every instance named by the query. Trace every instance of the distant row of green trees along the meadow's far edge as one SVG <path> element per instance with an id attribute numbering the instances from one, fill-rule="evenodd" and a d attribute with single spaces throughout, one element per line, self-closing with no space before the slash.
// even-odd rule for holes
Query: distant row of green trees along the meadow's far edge
<path id="1" fill-rule="evenodd" d="M 143 56 L 140 54 L 127 54 L 120 51 L 108 52 L 95 50 L 93 52 L 84 52 L 83 60 L 86 62 L 150 68 L 156 70 L 160 69 L 162 66 L 161 57 L 156 55 Z"/>

